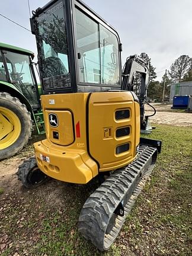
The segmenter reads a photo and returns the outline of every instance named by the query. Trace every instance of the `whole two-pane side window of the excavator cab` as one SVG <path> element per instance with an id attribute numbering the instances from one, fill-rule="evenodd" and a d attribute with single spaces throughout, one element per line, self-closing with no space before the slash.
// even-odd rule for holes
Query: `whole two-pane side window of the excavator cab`
<path id="1" fill-rule="evenodd" d="M 79 82 L 120 86 L 117 37 L 75 9 Z"/>

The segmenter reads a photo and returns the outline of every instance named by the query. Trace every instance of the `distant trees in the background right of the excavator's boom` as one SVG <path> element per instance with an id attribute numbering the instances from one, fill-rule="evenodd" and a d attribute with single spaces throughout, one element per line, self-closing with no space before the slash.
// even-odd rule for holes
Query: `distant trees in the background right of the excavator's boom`
<path id="1" fill-rule="evenodd" d="M 177 82 L 192 81 L 192 57 L 188 55 L 181 55 L 172 63 L 171 67 L 162 76 L 161 82 L 156 81 L 155 67 L 151 63 L 151 59 L 146 53 L 141 53 L 140 57 L 149 62 L 149 71 L 151 79 L 148 86 L 148 98 L 151 100 L 162 101 L 162 91 L 165 83 L 165 100 L 169 100 L 170 84 Z"/>

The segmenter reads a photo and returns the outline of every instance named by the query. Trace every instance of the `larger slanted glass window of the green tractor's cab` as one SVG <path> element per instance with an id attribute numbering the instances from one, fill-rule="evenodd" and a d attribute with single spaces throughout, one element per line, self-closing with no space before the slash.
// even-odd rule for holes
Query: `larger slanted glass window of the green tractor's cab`
<path id="1" fill-rule="evenodd" d="M 30 68 L 30 57 L 20 53 L 5 53 L 12 84 L 27 98 L 31 105 L 38 105 L 35 82 Z"/>

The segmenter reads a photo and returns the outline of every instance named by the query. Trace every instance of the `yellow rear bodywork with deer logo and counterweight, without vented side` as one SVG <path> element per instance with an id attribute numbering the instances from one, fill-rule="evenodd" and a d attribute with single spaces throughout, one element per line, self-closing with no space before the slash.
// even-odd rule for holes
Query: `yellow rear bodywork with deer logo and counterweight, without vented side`
<path id="1" fill-rule="evenodd" d="M 34 143 L 37 165 L 41 171 L 57 180 L 86 184 L 98 174 L 98 165 L 87 152 L 86 103 L 88 95 L 89 93 L 76 93 L 41 96 L 47 139 Z M 71 119 L 69 116 L 65 119 L 66 116 L 60 114 L 66 111 L 71 113 Z M 50 126 L 49 113 L 57 114 L 58 127 Z M 76 132 L 74 133 L 77 123 L 80 126 L 80 137 L 76 136 Z M 68 139 L 69 130 L 72 132 L 69 137 L 74 137 L 74 139 L 70 145 L 63 146 Z M 59 132 L 59 140 L 53 140 L 53 131 Z M 49 162 L 45 161 L 46 159 L 49 159 Z"/>

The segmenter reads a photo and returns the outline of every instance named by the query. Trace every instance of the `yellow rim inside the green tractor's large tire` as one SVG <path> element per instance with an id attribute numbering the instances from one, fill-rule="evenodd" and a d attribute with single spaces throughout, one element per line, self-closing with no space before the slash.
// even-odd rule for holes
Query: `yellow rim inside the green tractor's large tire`
<path id="1" fill-rule="evenodd" d="M 21 122 L 8 108 L 0 107 L 0 149 L 11 146 L 20 136 Z"/>

